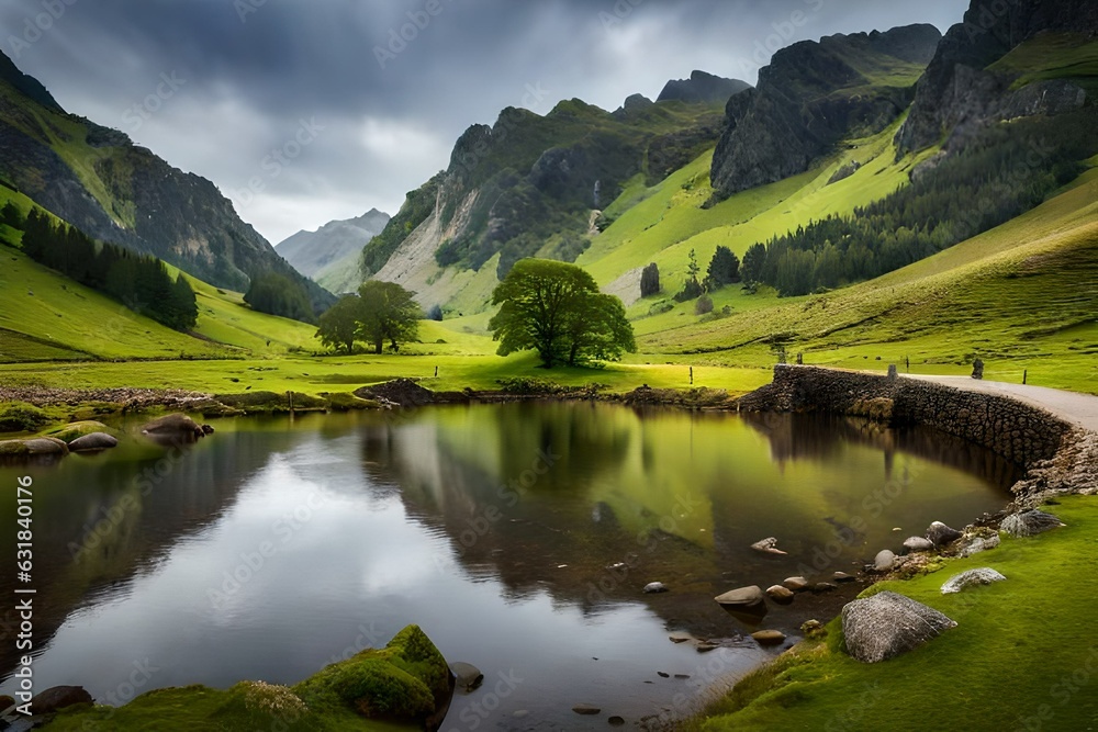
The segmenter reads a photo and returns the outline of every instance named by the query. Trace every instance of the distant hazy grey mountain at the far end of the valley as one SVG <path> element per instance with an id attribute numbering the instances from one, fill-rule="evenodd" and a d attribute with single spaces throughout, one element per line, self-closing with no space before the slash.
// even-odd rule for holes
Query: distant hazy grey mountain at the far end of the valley
<path id="1" fill-rule="evenodd" d="M 381 234 L 391 216 L 377 209 L 358 218 L 334 221 L 315 232 L 298 232 L 277 244 L 274 250 L 290 264 L 314 281 L 333 267 L 354 267 L 370 239 Z M 350 258 L 349 262 L 343 261 Z"/>

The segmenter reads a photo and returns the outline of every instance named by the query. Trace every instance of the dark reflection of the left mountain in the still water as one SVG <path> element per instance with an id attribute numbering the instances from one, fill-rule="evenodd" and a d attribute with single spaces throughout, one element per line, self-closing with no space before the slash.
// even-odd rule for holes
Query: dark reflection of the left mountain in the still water
<path id="1" fill-rule="evenodd" d="M 182 452 L 130 442 L 111 453 L 70 455 L 53 468 L 31 469 L 35 647 L 44 647 L 81 605 L 116 598 L 181 538 L 213 523 L 280 442 L 265 432 L 217 435 Z M 0 540 L 4 556 L 14 556 L 13 539 L 5 532 Z M 0 594 L 11 597 L 13 582 L 5 573 Z M 7 635 L 13 618 L 0 615 L 0 635 Z M 4 642 L 4 676 L 18 657 L 14 643 Z"/>

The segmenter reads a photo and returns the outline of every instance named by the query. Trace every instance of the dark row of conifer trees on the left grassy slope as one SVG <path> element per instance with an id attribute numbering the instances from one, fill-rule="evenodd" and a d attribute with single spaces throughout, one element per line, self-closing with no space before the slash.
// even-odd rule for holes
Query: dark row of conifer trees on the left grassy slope
<path id="1" fill-rule="evenodd" d="M 15 221 L 12 221 L 12 219 Z M 172 279 L 156 257 L 97 243 L 83 232 L 32 209 L 24 222 L 18 210 L 3 211 L 4 223 L 23 229 L 23 254 L 80 284 L 169 328 L 187 330 L 198 322 L 194 291 L 182 274 Z"/>

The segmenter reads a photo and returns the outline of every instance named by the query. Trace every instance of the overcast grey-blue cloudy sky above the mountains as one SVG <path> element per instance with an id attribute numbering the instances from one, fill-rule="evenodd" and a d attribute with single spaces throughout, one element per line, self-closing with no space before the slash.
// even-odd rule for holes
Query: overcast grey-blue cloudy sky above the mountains
<path id="1" fill-rule="evenodd" d="M 917 22 L 944 32 L 967 4 L 4 0 L 0 47 L 66 110 L 213 180 L 277 244 L 396 213 L 466 127 L 505 106 L 614 110 L 693 69 L 753 83 L 780 45 Z M 35 16 L 47 31 L 27 30 Z"/>

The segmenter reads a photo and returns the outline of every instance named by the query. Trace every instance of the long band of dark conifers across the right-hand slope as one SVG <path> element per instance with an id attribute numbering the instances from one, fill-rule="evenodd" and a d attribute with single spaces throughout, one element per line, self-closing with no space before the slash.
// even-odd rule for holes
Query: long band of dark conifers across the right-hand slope
<path id="1" fill-rule="evenodd" d="M 754 245 L 744 279 L 793 296 L 892 272 L 1039 205 L 1074 180 L 1079 160 L 1096 148 L 1071 124 L 989 128 L 960 155 L 851 216 L 828 216 Z"/>

